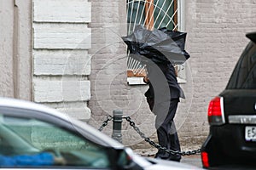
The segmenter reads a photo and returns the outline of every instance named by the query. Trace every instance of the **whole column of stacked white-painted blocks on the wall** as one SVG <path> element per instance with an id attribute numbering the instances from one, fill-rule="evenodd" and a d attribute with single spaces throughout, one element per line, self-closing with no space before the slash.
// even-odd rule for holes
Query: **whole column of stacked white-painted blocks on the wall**
<path id="1" fill-rule="evenodd" d="M 90 2 L 33 0 L 33 100 L 90 118 Z"/>

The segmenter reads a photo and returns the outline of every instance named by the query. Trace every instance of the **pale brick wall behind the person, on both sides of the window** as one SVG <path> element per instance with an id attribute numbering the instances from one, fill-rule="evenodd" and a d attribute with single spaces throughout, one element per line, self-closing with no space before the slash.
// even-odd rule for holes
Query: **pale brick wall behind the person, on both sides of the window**
<path id="1" fill-rule="evenodd" d="M 99 127 L 121 109 L 146 135 L 155 139 L 154 115 L 148 110 L 143 93 L 146 86 L 127 86 L 125 77 L 125 0 L 92 3 L 92 54 L 90 124 Z M 182 99 L 175 118 L 183 150 L 198 149 L 207 137 L 207 105 L 226 86 L 236 60 L 247 44 L 245 33 L 256 30 L 255 1 L 210 0 L 184 3 L 187 82 L 181 84 Z M 100 13 L 99 13 L 100 11 Z M 123 123 L 123 142 L 137 149 L 151 148 Z M 104 133 L 111 134 L 111 123 Z M 152 148 L 151 148 L 152 149 Z M 148 149 L 147 149 L 148 150 Z"/>

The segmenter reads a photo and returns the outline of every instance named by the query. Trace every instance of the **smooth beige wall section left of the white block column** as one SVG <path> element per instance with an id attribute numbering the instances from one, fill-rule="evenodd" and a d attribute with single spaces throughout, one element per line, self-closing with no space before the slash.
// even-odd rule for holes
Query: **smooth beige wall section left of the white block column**
<path id="1" fill-rule="evenodd" d="M 32 99 L 31 1 L 1 1 L 0 96 Z"/>

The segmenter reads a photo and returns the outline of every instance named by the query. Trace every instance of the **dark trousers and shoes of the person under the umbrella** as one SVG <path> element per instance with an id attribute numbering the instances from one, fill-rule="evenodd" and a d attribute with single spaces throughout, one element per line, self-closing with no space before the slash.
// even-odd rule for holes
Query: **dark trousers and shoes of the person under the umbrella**
<path id="1" fill-rule="evenodd" d="M 180 151 L 180 144 L 177 137 L 177 130 L 173 118 L 177 111 L 177 104 L 179 99 L 172 99 L 167 114 L 162 114 L 158 112 L 156 115 L 156 128 L 157 128 L 157 137 L 159 144 L 163 147 L 166 147 L 169 150 L 178 150 Z M 164 111 L 165 112 L 165 111 Z M 174 161 L 179 161 L 181 156 L 172 155 L 164 150 L 159 150 L 156 154 L 156 157 L 162 159 L 170 159 Z"/>

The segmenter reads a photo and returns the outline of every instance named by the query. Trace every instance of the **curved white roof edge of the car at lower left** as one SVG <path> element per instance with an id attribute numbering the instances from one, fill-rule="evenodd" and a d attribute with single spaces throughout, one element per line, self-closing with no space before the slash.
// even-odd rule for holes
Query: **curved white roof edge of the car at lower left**
<path id="1" fill-rule="evenodd" d="M 108 135 L 99 132 L 98 130 L 96 130 L 96 128 L 91 127 L 86 122 L 81 122 L 79 120 L 76 120 L 73 117 L 68 116 L 67 114 L 64 114 L 64 113 L 61 113 L 60 111 L 49 108 L 48 106 L 36 104 L 34 102 L 21 100 L 21 99 L 0 97 L 0 108 L 1 107 L 16 108 L 16 109 L 20 108 L 23 110 L 35 111 L 33 114 L 37 114 L 37 111 L 44 112 L 49 116 L 55 116 L 57 118 L 62 119 L 65 122 L 72 122 L 73 125 L 76 125 L 80 129 L 84 129 L 84 131 L 86 132 L 90 132 L 97 139 L 104 139 L 104 142 L 107 143 L 109 146 L 112 146 L 114 148 L 124 148 L 123 144 L 120 144 L 116 140 L 110 138 Z"/>

